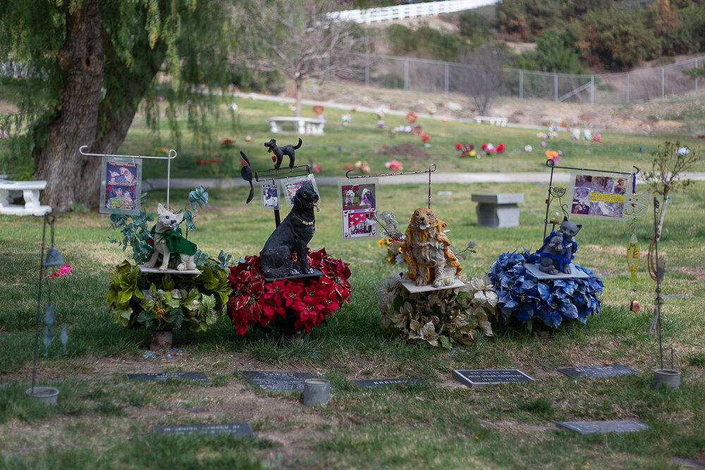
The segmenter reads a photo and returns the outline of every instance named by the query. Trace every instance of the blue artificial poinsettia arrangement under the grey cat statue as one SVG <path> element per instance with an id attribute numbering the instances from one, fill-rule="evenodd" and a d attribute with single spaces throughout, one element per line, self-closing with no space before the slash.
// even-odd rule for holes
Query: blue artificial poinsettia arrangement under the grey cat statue
<path id="1" fill-rule="evenodd" d="M 588 315 L 600 313 L 597 295 L 602 292 L 602 281 L 592 276 L 593 271 L 573 263 L 572 266 L 589 274 L 589 278 L 538 281 L 527 272 L 525 264 L 540 262 L 539 254 L 525 249 L 523 253 L 503 253 L 492 264 L 489 277 L 505 321 L 514 316 L 530 328 L 531 319 L 540 319 L 558 328 L 564 318 L 586 323 Z"/>

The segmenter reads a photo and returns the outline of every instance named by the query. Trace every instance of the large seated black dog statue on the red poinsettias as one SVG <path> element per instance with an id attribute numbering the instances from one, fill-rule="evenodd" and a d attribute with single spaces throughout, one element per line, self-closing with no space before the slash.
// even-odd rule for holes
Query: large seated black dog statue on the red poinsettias
<path id="1" fill-rule="evenodd" d="M 313 211 L 316 206 L 318 194 L 313 185 L 305 184 L 296 191 L 293 208 L 269 235 L 259 254 L 265 278 L 280 279 L 313 272 L 306 260 L 306 247 L 316 232 L 316 216 Z M 291 253 L 294 251 L 298 256 L 297 264 L 291 261 Z"/>

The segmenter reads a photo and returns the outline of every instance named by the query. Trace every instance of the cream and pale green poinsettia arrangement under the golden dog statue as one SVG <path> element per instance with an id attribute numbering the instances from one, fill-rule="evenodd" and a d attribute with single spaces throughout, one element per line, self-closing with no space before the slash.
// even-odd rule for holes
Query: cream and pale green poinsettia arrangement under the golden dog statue
<path id="1" fill-rule="evenodd" d="M 450 350 L 492 335 L 498 297 L 489 279 L 473 276 L 464 287 L 417 293 L 407 291 L 401 280 L 403 273 L 392 273 L 377 286 L 380 326 L 398 333 L 401 341 Z"/>

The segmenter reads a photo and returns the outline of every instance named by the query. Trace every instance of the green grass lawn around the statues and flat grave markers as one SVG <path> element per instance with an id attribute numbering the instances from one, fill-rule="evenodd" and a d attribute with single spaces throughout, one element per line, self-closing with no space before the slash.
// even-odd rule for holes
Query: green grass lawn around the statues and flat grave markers
<path id="1" fill-rule="evenodd" d="M 269 139 L 266 116 L 282 114 L 278 104 L 239 100 L 240 130 L 216 125 L 219 139 L 250 144 L 243 149 L 257 168 L 269 165 L 262 142 Z M 325 137 L 307 137 L 298 157 L 312 158 L 324 171 L 367 159 L 373 173 L 383 172 L 382 144 L 417 142 L 376 130 L 374 118 L 356 113 L 350 128 L 326 110 L 331 125 Z M 387 118 L 388 125 L 393 118 Z M 439 171 L 546 171 L 536 131 L 422 123 L 433 137 L 429 153 Z M 571 142 L 561 135 L 562 164 L 626 171 L 646 166 L 661 137 L 603 135 L 604 142 Z M 663 136 L 662 136 L 663 137 Z M 661 140 L 659 140 L 661 139 Z M 283 139 L 288 142 L 286 137 Z M 290 140 L 293 140 L 291 138 Z M 505 142 L 508 151 L 493 158 L 461 160 L 455 142 Z M 694 144 L 695 142 L 689 142 Z M 168 144 L 149 137 L 137 122 L 121 148 L 147 154 Z M 339 152 L 338 147 L 343 147 Z M 550 148 L 550 147 L 549 147 Z M 520 150 L 521 149 L 521 150 Z M 201 154 L 185 144 L 179 149 L 174 176 L 205 175 L 193 158 Z M 215 149 L 213 155 L 225 151 Z M 302 162 L 303 163 L 303 162 Z M 428 161 L 404 161 L 420 169 Z M 703 168 L 699 168 L 702 170 Z M 239 159 L 235 164 L 239 173 Z M 147 166 L 145 177 L 161 176 Z M 639 188 L 640 189 L 640 188 Z M 245 205 L 247 190 L 213 189 L 209 206 L 199 212 L 198 230 L 190 236 L 209 253 L 223 249 L 239 259 L 257 254 L 274 228 L 271 211 L 255 200 Z M 39 250 L 42 220 L 0 215 L 0 467 L 35 468 L 678 468 L 672 459 L 705 460 L 705 182 L 674 194 L 670 202 L 661 261 L 668 298 L 663 307 L 663 345 L 675 349 L 675 369 L 682 371 L 678 390 L 651 388 L 659 366 L 658 340 L 648 333 L 655 283 L 646 274 L 646 250 L 654 233 L 653 214 L 639 219 L 642 248 L 636 298 L 640 312 L 628 310 L 632 299 L 625 223 L 584 219 L 577 237 L 576 261 L 603 280 L 602 309 L 587 325 L 565 322 L 557 330 L 493 323 L 494 336 L 447 351 L 427 345 L 404 345 L 379 328 L 376 285 L 400 269 L 386 264 L 376 240 L 338 242 L 336 188 L 319 187 L 321 212 L 309 245 L 325 247 L 350 263 L 353 297 L 329 321 L 314 328 L 303 345 L 282 345 L 257 330 L 241 337 L 227 318 L 207 333 L 178 331 L 176 359 L 145 359 L 148 333 L 125 330 L 111 321 L 105 296 L 114 266 L 126 257 L 107 242 L 113 233 L 99 214 L 57 214 L 56 246 L 73 267 L 73 275 L 49 280 L 57 321 L 67 323 L 68 356 L 56 339 L 49 357 L 40 356 L 37 375 L 61 392 L 59 405 L 43 407 L 23 396 L 32 372 Z M 443 194 L 438 194 L 443 192 Z M 448 194 L 450 192 L 450 194 Z M 520 227 L 477 226 L 474 192 L 522 192 Z M 172 206 L 185 203 L 186 190 L 171 192 Z M 148 206 L 165 192 L 148 196 Z M 468 276 L 482 276 L 494 259 L 515 249 L 535 250 L 543 237 L 546 187 L 531 184 L 434 184 L 432 208 L 448 223 L 457 246 L 470 240 L 477 254 L 463 262 Z M 413 209 L 427 202 L 426 185 L 384 185 L 379 209 L 393 211 L 407 223 Z M 286 211 L 284 211 L 286 214 Z M 47 283 L 44 284 L 46 289 Z M 603 380 L 573 380 L 558 373 L 563 366 L 620 362 L 639 373 Z M 238 371 L 286 370 L 325 373 L 335 387 L 326 407 L 304 408 L 300 394 L 278 395 L 247 386 Z M 495 385 L 479 389 L 456 386 L 453 369 L 521 369 L 536 379 L 529 385 Z M 170 381 L 134 383 L 125 373 L 204 371 L 213 385 Z M 360 390 L 353 380 L 422 377 L 420 385 Z M 636 419 L 648 431 L 626 435 L 582 436 L 560 431 L 555 421 Z M 248 422 L 257 440 L 226 435 L 158 435 L 153 426 L 185 423 Z"/>

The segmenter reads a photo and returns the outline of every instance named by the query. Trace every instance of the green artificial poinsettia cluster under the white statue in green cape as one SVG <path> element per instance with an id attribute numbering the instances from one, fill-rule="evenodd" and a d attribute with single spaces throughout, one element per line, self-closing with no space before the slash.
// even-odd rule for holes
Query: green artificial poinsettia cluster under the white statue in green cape
<path id="1" fill-rule="evenodd" d="M 199 276 L 142 273 L 123 261 L 108 287 L 108 309 L 114 323 L 148 330 L 206 331 L 226 310 L 231 287 L 228 271 L 200 266 Z"/>

